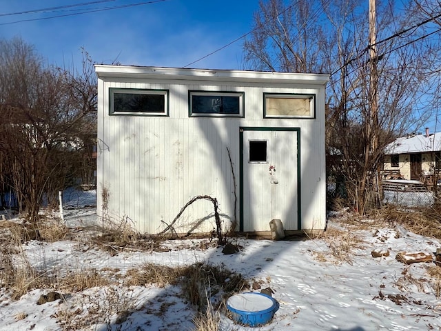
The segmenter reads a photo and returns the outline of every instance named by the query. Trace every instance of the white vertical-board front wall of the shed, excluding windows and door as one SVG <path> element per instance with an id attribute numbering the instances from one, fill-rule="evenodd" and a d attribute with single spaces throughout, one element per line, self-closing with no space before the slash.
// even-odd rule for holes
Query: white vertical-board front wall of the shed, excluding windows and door
<path id="1" fill-rule="evenodd" d="M 109 88 L 170 90 L 170 117 L 110 116 Z M 245 92 L 245 118 L 189 117 L 188 90 Z M 316 119 L 263 119 L 264 92 L 316 94 Z M 139 232 L 157 233 L 192 197 L 206 194 L 218 200 L 227 229 L 240 212 L 238 200 L 234 210 L 234 192 L 240 199 L 239 128 L 291 127 L 300 128 L 301 137 L 302 228 L 325 228 L 324 93 L 323 86 L 311 85 L 99 79 L 99 215 L 127 217 Z M 201 221 L 197 231 L 209 232 L 213 212 L 212 203 L 197 201 L 174 229 L 185 233 Z"/>

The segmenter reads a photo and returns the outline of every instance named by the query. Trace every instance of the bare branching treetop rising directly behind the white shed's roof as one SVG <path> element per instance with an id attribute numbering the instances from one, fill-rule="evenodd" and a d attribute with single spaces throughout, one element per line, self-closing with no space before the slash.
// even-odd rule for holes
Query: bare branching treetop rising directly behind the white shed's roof
<path id="1" fill-rule="evenodd" d="M 259 1 L 252 37 L 244 43 L 245 63 L 258 70 L 320 71 L 318 44 L 321 34 L 319 4 L 283 0 Z"/>

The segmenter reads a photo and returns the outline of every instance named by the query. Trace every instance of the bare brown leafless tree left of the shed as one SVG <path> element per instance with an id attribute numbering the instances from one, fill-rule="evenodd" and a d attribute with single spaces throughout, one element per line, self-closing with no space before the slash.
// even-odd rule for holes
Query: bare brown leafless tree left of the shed
<path id="1" fill-rule="evenodd" d="M 19 210 L 32 222 L 43 194 L 64 188 L 74 173 L 71 151 L 80 133 L 91 129 L 88 116 L 95 101 L 89 82 L 45 66 L 19 38 L 0 40 L 0 150 L 6 170 L 1 179 L 11 185 Z"/>

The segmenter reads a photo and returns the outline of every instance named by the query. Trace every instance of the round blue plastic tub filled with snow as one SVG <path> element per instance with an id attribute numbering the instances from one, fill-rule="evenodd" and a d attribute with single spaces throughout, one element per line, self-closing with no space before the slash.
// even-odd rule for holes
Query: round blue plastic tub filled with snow
<path id="1" fill-rule="evenodd" d="M 278 302 L 263 293 L 246 292 L 227 300 L 227 309 L 232 313 L 233 321 L 252 327 L 269 323 L 278 308 Z"/>

